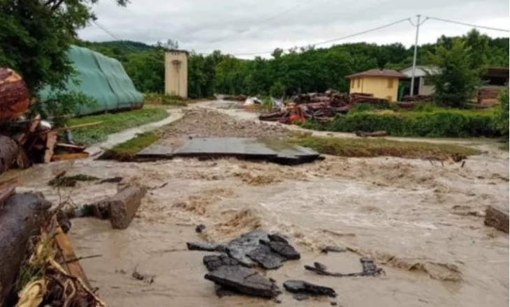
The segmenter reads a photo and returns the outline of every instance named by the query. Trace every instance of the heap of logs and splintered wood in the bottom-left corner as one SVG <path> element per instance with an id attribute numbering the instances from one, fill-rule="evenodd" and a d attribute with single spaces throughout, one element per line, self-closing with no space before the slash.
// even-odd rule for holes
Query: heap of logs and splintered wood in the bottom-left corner
<path id="1" fill-rule="evenodd" d="M 0 190 L 0 306 L 105 306 L 41 193 Z"/>

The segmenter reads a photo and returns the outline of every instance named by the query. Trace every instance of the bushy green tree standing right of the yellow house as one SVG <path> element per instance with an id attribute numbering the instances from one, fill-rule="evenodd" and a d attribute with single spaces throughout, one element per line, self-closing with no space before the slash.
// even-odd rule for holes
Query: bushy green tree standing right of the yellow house
<path id="1" fill-rule="evenodd" d="M 435 86 L 437 103 L 446 107 L 465 107 L 474 98 L 480 84 L 479 71 L 471 67 L 471 49 L 456 38 L 451 41 L 450 49 L 438 45 L 435 54 L 430 54 L 430 62 L 441 70 L 438 75 L 428 76 Z"/>

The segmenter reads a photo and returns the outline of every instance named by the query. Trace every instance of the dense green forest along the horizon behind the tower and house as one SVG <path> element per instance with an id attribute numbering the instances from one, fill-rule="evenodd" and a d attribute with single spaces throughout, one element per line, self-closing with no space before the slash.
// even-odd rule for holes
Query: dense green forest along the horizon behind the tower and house
<path id="1" fill-rule="evenodd" d="M 474 33 L 474 34 L 473 34 Z M 435 63 L 431 54 L 442 46 L 450 50 L 456 38 L 442 36 L 435 44 L 418 48 L 418 64 Z M 469 32 L 457 38 L 469 50 L 481 48 L 466 65 L 509 66 L 509 39 L 489 38 L 478 32 Z M 105 43 L 80 42 L 109 57 L 122 61 L 126 72 L 138 90 L 163 93 L 164 91 L 164 45 L 144 45 L 131 41 Z M 270 59 L 238 59 L 215 51 L 207 56 L 189 54 L 189 96 L 191 98 L 228 93 L 266 96 L 282 89 L 289 96 L 298 92 L 348 91 L 352 73 L 371 68 L 403 69 L 411 66 L 413 48 L 400 43 L 376 45 L 346 43 L 329 48 L 301 48 L 283 52 L 275 50 Z"/>

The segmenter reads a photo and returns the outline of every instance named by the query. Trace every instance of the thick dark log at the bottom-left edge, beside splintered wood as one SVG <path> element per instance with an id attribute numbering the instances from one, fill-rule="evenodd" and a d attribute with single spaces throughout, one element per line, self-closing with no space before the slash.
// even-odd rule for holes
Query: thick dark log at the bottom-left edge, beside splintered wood
<path id="1" fill-rule="evenodd" d="M 30 237 L 37 234 L 50 207 L 42 194 L 17 193 L 0 208 L 0 306 L 20 273 Z"/>

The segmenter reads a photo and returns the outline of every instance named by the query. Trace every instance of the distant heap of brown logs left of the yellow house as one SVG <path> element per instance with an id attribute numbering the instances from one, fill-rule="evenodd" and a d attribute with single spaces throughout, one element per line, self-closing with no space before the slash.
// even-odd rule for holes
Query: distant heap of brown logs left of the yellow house
<path id="1" fill-rule="evenodd" d="M 356 103 L 388 103 L 386 99 L 375 98 L 371 93 L 351 93 L 350 95 L 327 91 L 326 93 L 305 93 L 294 96 L 292 103 L 273 108 L 261 114 L 261 121 L 293 123 L 305 119 L 328 121 L 337 114 L 346 114 Z"/>

